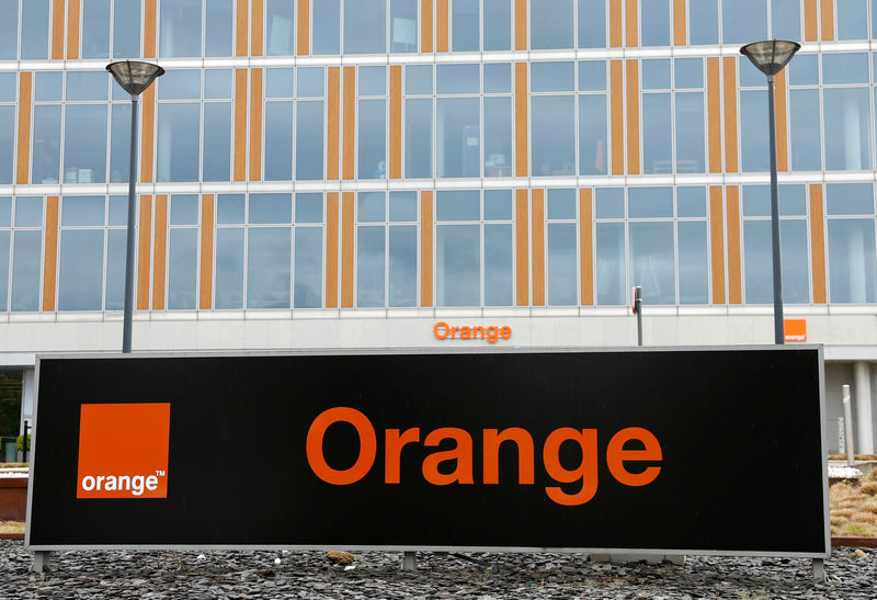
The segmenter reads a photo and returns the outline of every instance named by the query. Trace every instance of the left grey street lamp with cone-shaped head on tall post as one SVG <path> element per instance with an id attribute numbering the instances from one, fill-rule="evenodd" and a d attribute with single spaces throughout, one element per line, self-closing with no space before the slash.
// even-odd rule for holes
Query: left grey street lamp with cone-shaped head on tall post
<path id="1" fill-rule="evenodd" d="M 113 73 L 123 90 L 130 94 L 130 171 L 128 172 L 128 239 L 125 249 L 125 317 L 122 329 L 122 352 L 130 353 L 132 315 L 134 313 L 134 188 L 137 183 L 137 102 L 140 94 L 164 75 L 164 69 L 139 60 L 111 63 L 106 70 Z"/>

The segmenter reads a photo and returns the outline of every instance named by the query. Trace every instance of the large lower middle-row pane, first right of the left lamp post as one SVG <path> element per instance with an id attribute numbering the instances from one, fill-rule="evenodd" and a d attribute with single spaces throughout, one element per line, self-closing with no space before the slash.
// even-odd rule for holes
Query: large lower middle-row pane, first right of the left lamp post
<path id="1" fill-rule="evenodd" d="M 158 106 L 158 181 L 197 181 L 201 148 L 201 106 Z"/>

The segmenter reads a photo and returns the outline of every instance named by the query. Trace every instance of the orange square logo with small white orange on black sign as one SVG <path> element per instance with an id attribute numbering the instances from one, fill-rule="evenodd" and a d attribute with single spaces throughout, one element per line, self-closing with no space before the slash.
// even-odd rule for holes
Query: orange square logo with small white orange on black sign
<path id="1" fill-rule="evenodd" d="M 83 404 L 77 498 L 167 498 L 169 403 Z"/>

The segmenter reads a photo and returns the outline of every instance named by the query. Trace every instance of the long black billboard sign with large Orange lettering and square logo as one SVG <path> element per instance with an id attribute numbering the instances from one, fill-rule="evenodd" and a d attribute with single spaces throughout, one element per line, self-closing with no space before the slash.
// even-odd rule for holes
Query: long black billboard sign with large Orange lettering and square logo
<path id="1" fill-rule="evenodd" d="M 829 553 L 812 347 L 42 358 L 27 543 Z"/>

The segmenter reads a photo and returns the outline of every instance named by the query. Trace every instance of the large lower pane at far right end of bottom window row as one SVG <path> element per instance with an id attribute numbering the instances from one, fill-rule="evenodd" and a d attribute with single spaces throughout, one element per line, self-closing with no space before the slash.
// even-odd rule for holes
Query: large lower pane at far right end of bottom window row
<path id="1" fill-rule="evenodd" d="M 831 302 L 877 302 L 874 218 L 829 219 Z"/>

